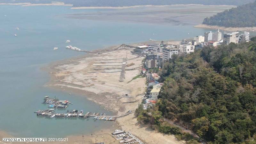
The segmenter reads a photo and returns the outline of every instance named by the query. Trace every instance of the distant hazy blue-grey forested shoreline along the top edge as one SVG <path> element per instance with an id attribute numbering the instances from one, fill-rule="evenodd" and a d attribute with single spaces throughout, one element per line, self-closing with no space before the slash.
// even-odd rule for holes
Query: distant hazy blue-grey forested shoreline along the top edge
<path id="1" fill-rule="evenodd" d="M 242 5 L 253 2 L 234 1 L 234 0 L 58 0 L 65 4 L 73 4 L 74 7 L 80 6 L 134 6 L 134 5 L 171 5 L 171 4 L 205 4 L 205 5 Z M 33 3 L 45 4 L 51 3 L 52 0 L 0 0 L 0 3 Z"/>

